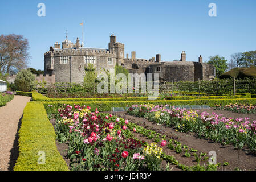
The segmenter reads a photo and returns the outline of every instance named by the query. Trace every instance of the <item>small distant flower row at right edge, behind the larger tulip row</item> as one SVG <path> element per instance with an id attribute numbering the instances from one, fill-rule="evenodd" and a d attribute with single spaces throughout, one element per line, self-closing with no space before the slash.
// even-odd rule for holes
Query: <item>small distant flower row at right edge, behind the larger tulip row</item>
<path id="1" fill-rule="evenodd" d="M 217 110 L 228 110 L 234 113 L 243 113 L 243 114 L 256 114 L 256 105 L 250 104 L 229 104 L 229 105 L 216 105 L 215 109 Z"/>

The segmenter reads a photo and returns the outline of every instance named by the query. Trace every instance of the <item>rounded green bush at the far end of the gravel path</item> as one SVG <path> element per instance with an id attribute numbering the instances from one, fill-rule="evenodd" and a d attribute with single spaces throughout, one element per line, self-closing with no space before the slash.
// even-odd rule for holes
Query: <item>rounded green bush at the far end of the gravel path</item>
<path id="1" fill-rule="evenodd" d="M 27 69 L 23 69 L 18 72 L 14 85 L 19 91 L 30 92 L 35 86 L 35 76 Z"/>

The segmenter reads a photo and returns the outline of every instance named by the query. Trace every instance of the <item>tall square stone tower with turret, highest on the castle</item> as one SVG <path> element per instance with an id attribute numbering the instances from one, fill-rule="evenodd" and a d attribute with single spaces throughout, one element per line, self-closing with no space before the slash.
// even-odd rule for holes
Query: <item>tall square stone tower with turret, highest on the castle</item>
<path id="1" fill-rule="evenodd" d="M 114 34 L 110 36 L 108 50 L 116 53 L 116 65 L 124 63 L 124 44 L 116 42 L 116 36 Z"/>

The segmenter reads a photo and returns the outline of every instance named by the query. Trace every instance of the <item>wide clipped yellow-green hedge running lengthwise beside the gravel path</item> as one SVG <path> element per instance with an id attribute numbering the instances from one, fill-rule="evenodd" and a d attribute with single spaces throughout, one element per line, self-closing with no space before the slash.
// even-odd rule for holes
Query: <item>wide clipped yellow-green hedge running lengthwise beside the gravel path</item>
<path id="1" fill-rule="evenodd" d="M 55 144 L 54 127 L 41 102 L 29 102 L 23 110 L 19 130 L 19 157 L 14 171 L 66 171 Z M 45 164 L 38 164 L 39 151 L 45 152 Z"/>

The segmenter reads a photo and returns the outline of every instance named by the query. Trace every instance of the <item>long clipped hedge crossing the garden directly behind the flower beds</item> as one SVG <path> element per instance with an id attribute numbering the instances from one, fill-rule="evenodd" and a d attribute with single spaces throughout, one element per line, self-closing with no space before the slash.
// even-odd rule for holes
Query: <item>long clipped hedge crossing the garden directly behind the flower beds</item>
<path id="1" fill-rule="evenodd" d="M 256 104 L 256 98 L 234 98 L 234 99 L 207 99 L 207 100 L 171 100 L 171 101 L 94 101 L 94 102 L 69 102 L 69 101 L 55 101 L 55 102 L 43 102 L 47 112 L 51 107 L 62 107 L 63 104 L 68 105 L 86 105 L 90 106 L 92 110 L 95 110 L 97 107 L 99 111 L 112 111 L 113 107 L 126 107 L 132 105 L 140 105 L 140 104 L 169 104 L 171 106 L 180 106 L 180 105 L 209 105 L 210 107 L 214 107 L 216 105 L 226 105 L 230 103 L 243 103 L 243 104 Z"/>

